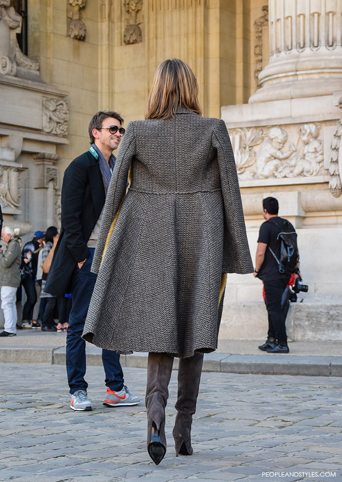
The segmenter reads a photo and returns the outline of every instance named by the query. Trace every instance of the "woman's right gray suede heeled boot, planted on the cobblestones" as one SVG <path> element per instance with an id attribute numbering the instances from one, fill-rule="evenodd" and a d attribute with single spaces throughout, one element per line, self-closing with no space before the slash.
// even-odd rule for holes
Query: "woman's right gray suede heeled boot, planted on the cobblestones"
<path id="1" fill-rule="evenodd" d="M 172 435 L 176 456 L 192 455 L 191 425 L 196 412 L 196 401 L 201 380 L 203 353 L 195 353 L 189 358 L 180 358 L 178 366 L 177 410 Z"/>

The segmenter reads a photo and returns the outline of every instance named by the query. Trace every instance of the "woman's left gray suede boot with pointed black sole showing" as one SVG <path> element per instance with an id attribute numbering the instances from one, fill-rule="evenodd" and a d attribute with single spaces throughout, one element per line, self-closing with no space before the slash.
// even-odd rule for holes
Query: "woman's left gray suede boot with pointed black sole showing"
<path id="1" fill-rule="evenodd" d="M 158 465 L 166 453 L 165 407 L 169 398 L 173 356 L 149 353 L 145 405 L 147 408 L 147 450 Z"/>

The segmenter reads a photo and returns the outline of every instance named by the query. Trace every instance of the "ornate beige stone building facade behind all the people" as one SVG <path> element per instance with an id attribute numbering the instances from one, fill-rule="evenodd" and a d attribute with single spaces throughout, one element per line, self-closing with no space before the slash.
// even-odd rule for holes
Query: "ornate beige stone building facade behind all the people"
<path id="1" fill-rule="evenodd" d="M 327 303 L 341 319 L 341 0 L 0 0 L 5 223 L 24 241 L 59 225 L 64 169 L 87 150 L 92 114 L 144 118 L 155 68 L 172 57 L 194 70 L 204 115 L 226 121 L 252 254 L 272 194 L 299 229 L 305 307 Z M 230 276 L 223 336 L 263 337 L 260 299 L 253 277 Z M 290 313 L 292 335 L 322 336 L 310 323 L 293 329 L 303 307 Z"/>

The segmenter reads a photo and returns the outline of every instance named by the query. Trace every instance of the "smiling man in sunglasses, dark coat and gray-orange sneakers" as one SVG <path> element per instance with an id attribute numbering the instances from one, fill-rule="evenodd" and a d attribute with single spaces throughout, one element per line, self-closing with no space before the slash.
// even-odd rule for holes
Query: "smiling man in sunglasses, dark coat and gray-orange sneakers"
<path id="1" fill-rule="evenodd" d="M 96 274 L 91 263 L 100 231 L 107 190 L 125 129 L 117 112 L 97 112 L 89 124 L 90 148 L 76 157 L 64 172 L 61 233 L 45 285 L 56 296 L 72 293 L 72 308 L 66 334 L 66 372 L 71 394 L 70 408 L 92 410 L 85 381 L 85 341 L 82 331 Z M 124 385 L 120 355 L 102 350 L 107 393 L 104 405 L 137 405 L 139 398 Z"/>

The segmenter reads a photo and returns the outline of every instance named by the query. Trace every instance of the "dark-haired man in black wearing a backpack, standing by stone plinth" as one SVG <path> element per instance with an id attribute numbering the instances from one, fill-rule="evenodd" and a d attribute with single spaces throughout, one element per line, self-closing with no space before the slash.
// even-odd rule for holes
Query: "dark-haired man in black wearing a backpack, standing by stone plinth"
<path id="1" fill-rule="evenodd" d="M 256 248 L 256 266 L 254 276 L 264 283 L 265 303 L 268 312 L 268 336 L 266 342 L 259 346 L 259 350 L 268 353 L 288 353 L 285 317 L 282 310 L 282 297 L 289 284 L 291 274 L 280 272 L 280 242 L 278 235 L 283 226 L 295 233 L 295 228 L 286 219 L 278 217 L 278 200 L 275 197 L 263 199 L 264 223 L 260 226 Z M 299 271 L 299 253 L 297 268 Z M 295 283 L 298 274 L 295 273 Z"/>

